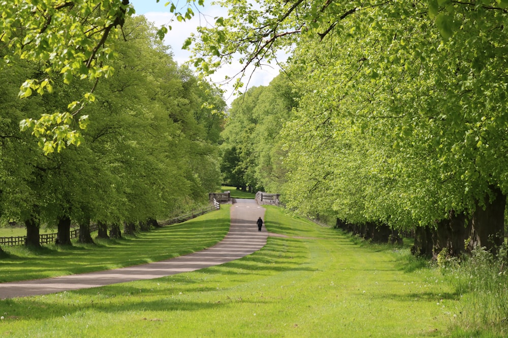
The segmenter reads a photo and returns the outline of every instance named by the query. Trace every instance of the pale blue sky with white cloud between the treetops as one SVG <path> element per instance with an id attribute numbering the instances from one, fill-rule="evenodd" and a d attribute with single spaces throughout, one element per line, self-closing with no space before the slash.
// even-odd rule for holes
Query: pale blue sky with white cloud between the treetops
<path id="1" fill-rule="evenodd" d="M 176 0 L 177 1 L 177 0 Z M 169 8 L 164 5 L 167 3 L 167 0 L 161 0 L 160 2 L 156 2 L 156 0 L 131 0 L 130 3 L 133 5 L 136 10 L 136 15 L 144 15 L 148 21 L 151 21 L 155 24 L 156 27 L 160 27 L 162 25 L 167 25 L 170 23 L 173 14 L 169 11 Z M 180 1 L 182 4 L 186 4 L 185 1 Z M 205 2 L 208 3 L 208 2 Z M 199 12 L 198 12 L 199 10 Z M 174 54 L 174 60 L 178 62 L 178 64 L 182 64 L 189 59 L 190 53 L 188 51 L 182 50 L 181 47 L 190 35 L 190 33 L 196 30 L 196 27 L 199 25 L 205 25 L 206 22 L 214 22 L 214 17 L 217 16 L 226 16 L 227 10 L 220 8 L 218 6 L 205 5 L 205 7 L 199 7 L 197 9 L 193 9 L 195 16 L 193 19 L 186 22 L 178 22 L 174 20 L 171 22 L 172 30 L 170 30 L 164 39 L 164 43 L 171 47 L 171 50 Z M 210 78 L 210 80 L 214 83 L 219 84 L 221 81 L 225 79 L 226 76 L 234 77 L 236 73 L 238 73 L 242 69 L 242 66 L 239 63 L 233 63 L 228 65 L 227 67 L 223 67 L 218 69 Z M 242 88 L 245 90 L 247 88 L 253 86 L 267 86 L 270 81 L 277 76 L 279 69 L 274 66 L 263 67 L 263 69 L 256 69 L 253 73 L 252 77 L 249 80 L 248 85 Z M 250 72 L 247 73 L 247 76 Z M 248 80 L 244 79 L 244 83 Z M 232 80 L 229 84 L 221 85 L 221 88 L 225 90 L 224 98 L 228 105 L 231 105 L 231 102 L 235 99 L 234 91 L 233 91 L 234 80 Z"/>

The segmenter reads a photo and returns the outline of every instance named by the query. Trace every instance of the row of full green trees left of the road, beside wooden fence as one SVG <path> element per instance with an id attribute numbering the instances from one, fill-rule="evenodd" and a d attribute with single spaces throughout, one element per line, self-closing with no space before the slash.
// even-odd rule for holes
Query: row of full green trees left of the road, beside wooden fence
<path id="1" fill-rule="evenodd" d="M 11 33 L 10 41 L 20 41 L 26 31 Z M 99 237 L 147 229 L 206 203 L 220 186 L 220 92 L 178 65 L 143 16 L 126 17 L 107 46 L 114 55 L 100 66 L 114 76 L 66 81 L 65 70 L 48 71 L 44 58 L 27 59 L 0 42 L 0 56 L 9 59 L 0 67 L 0 221 L 24 223 L 27 245 L 39 245 L 43 224 L 54 224 L 61 245 L 71 243 L 71 222 L 81 242 L 92 242 L 90 222 Z M 45 82 L 44 95 L 20 94 L 26 79 Z M 86 105 L 74 102 L 82 93 Z M 52 114 L 73 105 L 84 119 Z M 20 130 L 20 121 L 41 117 L 56 129 Z M 59 138 L 65 149 L 58 151 L 54 133 L 66 134 Z"/>

